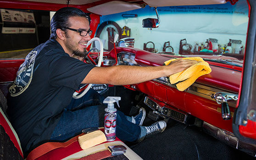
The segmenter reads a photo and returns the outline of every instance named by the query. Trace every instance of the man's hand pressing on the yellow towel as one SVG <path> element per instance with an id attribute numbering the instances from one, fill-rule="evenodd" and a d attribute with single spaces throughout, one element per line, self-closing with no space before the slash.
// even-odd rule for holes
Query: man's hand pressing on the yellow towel
<path id="1" fill-rule="evenodd" d="M 190 66 L 199 63 L 196 60 L 190 59 L 176 59 L 168 64 L 168 69 L 166 70 L 166 76 L 173 75 L 175 73 L 181 72 L 188 69 Z"/>

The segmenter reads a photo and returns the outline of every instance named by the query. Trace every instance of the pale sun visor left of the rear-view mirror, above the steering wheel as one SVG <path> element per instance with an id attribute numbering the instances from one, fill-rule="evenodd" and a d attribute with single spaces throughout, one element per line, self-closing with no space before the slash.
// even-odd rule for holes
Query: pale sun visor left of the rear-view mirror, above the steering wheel
<path id="1" fill-rule="evenodd" d="M 115 13 L 121 13 L 124 11 L 131 11 L 140 8 L 141 7 L 138 4 L 114 0 L 101 5 L 96 5 L 94 7 L 87 8 L 87 10 L 98 15 L 111 15 Z"/>

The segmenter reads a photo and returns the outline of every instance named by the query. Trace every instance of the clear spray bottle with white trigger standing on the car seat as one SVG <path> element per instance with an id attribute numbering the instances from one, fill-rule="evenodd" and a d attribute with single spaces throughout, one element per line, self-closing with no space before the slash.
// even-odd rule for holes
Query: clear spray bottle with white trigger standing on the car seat
<path id="1" fill-rule="evenodd" d="M 104 133 L 106 135 L 107 141 L 114 141 L 116 139 L 116 126 L 117 126 L 117 109 L 114 106 L 114 103 L 121 100 L 119 96 L 108 96 L 103 101 L 107 103 L 107 108 L 105 108 L 106 114 L 104 119 Z"/>

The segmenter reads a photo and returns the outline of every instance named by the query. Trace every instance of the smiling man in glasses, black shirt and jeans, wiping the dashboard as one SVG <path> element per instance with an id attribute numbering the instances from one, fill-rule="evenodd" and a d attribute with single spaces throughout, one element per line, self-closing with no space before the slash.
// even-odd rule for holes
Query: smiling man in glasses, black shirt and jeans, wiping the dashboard
<path id="1" fill-rule="evenodd" d="M 83 83 L 127 85 L 169 76 L 196 61 L 178 60 L 168 66 L 95 67 L 81 59 L 90 40 L 89 16 L 66 7 L 51 20 L 51 36 L 34 48 L 20 66 L 10 87 L 9 116 L 21 140 L 25 155 L 47 141 L 63 141 L 89 127 L 103 126 L 102 97 L 90 90 L 82 98 L 72 99 L 74 90 Z M 120 72 L 125 74 L 120 74 Z M 162 132 L 164 121 L 143 127 L 145 110 L 135 117 L 117 111 L 117 137 L 140 141 L 147 135 Z"/>

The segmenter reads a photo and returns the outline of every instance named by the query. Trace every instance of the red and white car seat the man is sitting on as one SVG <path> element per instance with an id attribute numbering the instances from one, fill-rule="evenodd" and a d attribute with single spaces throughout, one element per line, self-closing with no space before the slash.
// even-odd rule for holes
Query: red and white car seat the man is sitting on
<path id="1" fill-rule="evenodd" d="M 19 138 L 7 117 L 6 97 L 0 90 L 0 159 L 3 160 L 23 160 Z M 83 134 L 83 133 L 82 133 Z M 123 145 L 127 148 L 126 153 L 117 157 L 117 159 L 142 160 L 132 149 L 124 144 L 120 139 L 112 142 L 106 142 L 89 149 L 81 149 L 78 143 L 78 136 L 64 143 L 48 142 L 40 145 L 31 151 L 27 160 L 94 160 L 110 157 L 111 153 L 107 150 L 110 145 Z"/>

